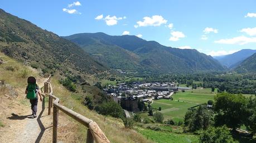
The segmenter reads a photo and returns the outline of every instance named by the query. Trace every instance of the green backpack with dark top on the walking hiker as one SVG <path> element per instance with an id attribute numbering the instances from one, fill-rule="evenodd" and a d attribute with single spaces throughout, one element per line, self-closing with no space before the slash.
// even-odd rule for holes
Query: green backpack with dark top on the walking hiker
<path id="1" fill-rule="evenodd" d="M 36 99 L 36 78 L 33 76 L 27 79 L 27 99 Z"/>

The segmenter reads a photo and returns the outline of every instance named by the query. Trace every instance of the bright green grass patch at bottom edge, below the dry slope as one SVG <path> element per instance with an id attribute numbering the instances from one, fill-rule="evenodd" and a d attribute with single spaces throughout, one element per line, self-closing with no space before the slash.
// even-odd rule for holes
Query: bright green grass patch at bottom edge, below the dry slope
<path id="1" fill-rule="evenodd" d="M 146 136 L 147 139 L 151 139 L 154 142 L 199 142 L 199 139 L 196 135 L 175 134 L 167 131 L 154 131 L 151 129 L 144 129 L 142 127 L 137 127 L 136 130 L 143 136 Z"/>

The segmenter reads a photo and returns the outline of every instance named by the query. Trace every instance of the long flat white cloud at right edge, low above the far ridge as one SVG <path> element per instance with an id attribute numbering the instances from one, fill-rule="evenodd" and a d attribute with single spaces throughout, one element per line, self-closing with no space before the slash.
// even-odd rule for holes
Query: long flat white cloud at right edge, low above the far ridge
<path id="1" fill-rule="evenodd" d="M 231 39 L 220 39 L 220 40 L 215 40 L 215 43 L 220 43 L 220 44 L 239 44 L 239 45 L 244 45 L 248 43 L 256 43 L 256 37 L 245 37 L 244 35 L 239 36 L 239 37 L 234 37 Z"/>

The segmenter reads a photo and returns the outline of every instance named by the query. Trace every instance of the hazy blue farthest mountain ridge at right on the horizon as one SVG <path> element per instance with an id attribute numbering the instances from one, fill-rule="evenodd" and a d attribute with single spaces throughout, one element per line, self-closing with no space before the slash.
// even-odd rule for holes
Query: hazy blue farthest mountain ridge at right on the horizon
<path id="1" fill-rule="evenodd" d="M 243 49 L 233 54 L 216 56 L 214 58 L 228 68 L 236 68 L 239 66 L 240 63 L 242 63 L 245 59 L 247 59 L 254 53 L 256 53 L 256 50 Z"/>

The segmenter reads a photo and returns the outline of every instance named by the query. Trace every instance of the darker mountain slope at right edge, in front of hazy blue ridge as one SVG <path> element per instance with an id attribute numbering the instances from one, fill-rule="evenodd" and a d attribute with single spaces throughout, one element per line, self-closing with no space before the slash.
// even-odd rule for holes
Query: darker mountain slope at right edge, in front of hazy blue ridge
<path id="1" fill-rule="evenodd" d="M 241 62 L 235 71 L 239 73 L 256 72 L 256 53 Z"/>

